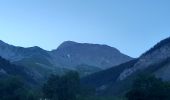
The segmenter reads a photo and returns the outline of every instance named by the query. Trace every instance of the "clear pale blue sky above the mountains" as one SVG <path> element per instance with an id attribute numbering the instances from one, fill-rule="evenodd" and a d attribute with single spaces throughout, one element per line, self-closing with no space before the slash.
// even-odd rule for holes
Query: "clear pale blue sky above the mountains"
<path id="1" fill-rule="evenodd" d="M 56 49 L 106 44 L 138 57 L 170 36 L 170 0 L 0 0 L 0 40 Z"/>

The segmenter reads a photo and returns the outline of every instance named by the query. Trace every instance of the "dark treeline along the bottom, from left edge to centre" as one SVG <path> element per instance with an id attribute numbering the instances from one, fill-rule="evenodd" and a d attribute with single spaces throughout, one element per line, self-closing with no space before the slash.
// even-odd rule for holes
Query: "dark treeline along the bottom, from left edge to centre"
<path id="1" fill-rule="evenodd" d="M 91 92 L 90 92 L 91 91 Z M 80 85 L 77 72 L 51 75 L 40 88 L 31 88 L 19 77 L 0 78 L 0 100 L 79 100 L 92 89 Z"/>

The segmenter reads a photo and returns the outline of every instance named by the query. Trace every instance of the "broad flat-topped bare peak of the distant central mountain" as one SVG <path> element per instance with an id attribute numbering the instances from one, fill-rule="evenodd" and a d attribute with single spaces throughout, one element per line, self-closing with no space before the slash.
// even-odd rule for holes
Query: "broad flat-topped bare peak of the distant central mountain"
<path id="1" fill-rule="evenodd" d="M 76 43 L 73 41 L 62 43 L 56 50 L 51 51 L 50 54 L 58 63 L 58 66 L 66 68 L 86 64 L 106 69 L 132 59 L 107 45 Z"/>

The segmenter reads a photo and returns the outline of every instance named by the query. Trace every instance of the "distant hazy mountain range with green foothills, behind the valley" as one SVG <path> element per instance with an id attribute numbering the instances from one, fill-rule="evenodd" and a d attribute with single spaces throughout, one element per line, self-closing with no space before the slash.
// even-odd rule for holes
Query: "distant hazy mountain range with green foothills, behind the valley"
<path id="1" fill-rule="evenodd" d="M 0 56 L 31 70 L 39 79 L 69 70 L 79 71 L 84 76 L 132 59 L 113 47 L 73 41 L 66 41 L 52 51 L 37 46 L 23 48 L 0 41 Z"/>

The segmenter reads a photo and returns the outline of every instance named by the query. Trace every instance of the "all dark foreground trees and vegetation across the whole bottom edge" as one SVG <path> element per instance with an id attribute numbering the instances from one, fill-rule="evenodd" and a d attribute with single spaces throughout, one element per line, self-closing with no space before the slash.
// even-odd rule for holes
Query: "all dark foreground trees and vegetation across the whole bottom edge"
<path id="1" fill-rule="evenodd" d="M 95 96 L 80 84 L 79 74 L 51 75 L 39 89 L 28 88 L 19 77 L 0 80 L 0 100 L 170 100 L 170 84 L 152 75 L 140 75 L 123 97 Z"/>

